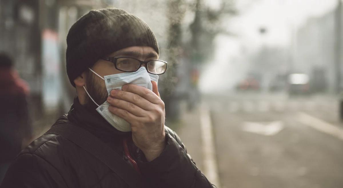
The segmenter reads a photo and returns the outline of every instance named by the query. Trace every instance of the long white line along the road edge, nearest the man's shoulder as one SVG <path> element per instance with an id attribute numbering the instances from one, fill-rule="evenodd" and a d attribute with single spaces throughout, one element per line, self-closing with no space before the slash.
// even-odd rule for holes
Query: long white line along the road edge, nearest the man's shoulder
<path id="1" fill-rule="evenodd" d="M 202 103 L 200 106 L 200 129 L 204 160 L 204 174 L 212 184 L 219 188 L 221 186 L 218 176 L 218 163 L 215 157 L 216 151 L 212 132 L 212 122 L 208 109 L 208 106 L 206 106 L 204 103 Z"/>

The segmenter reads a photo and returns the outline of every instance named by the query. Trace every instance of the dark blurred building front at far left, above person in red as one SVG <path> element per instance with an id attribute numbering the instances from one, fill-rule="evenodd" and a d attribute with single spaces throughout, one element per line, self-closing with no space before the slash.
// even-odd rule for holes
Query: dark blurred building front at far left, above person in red
<path id="1" fill-rule="evenodd" d="M 42 66 L 38 13 L 38 1 L 0 0 L 0 51 L 13 57 L 15 68 L 31 88 L 30 101 L 40 105 Z M 35 112 L 33 114 L 37 114 Z"/>

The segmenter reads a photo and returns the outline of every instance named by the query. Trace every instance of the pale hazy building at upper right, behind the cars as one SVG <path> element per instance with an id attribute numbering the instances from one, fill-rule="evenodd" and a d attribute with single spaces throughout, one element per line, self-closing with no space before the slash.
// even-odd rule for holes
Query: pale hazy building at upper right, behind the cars
<path id="1" fill-rule="evenodd" d="M 312 88 L 336 93 L 342 75 L 341 5 L 332 11 L 308 19 L 297 32 L 293 46 L 292 70 L 307 73 Z"/>

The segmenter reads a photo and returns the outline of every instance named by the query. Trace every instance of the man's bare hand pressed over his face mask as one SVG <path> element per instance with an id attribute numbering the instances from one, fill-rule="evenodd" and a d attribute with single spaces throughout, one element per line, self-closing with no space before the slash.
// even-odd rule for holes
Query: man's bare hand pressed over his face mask
<path id="1" fill-rule="evenodd" d="M 112 90 L 107 102 L 108 110 L 131 124 L 132 139 L 146 159 L 152 161 L 165 147 L 164 103 L 159 96 L 157 83 L 153 91 L 134 84 Z"/>

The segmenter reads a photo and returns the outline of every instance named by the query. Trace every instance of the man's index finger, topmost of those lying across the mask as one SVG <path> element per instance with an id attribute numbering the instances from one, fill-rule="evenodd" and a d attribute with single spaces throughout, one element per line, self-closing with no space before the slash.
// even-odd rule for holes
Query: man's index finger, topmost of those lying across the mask
<path id="1" fill-rule="evenodd" d="M 150 91 L 149 89 L 144 88 L 143 86 L 139 86 L 135 84 L 126 84 L 122 87 L 122 90 L 135 93 L 154 104 L 161 104 L 162 102 L 161 98 L 159 98 L 158 95 L 156 95 L 154 92 Z"/>

